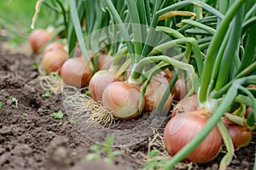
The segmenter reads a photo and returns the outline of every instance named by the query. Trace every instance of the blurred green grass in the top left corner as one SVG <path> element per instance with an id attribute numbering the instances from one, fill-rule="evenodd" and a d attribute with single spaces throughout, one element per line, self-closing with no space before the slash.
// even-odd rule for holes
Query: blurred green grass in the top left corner
<path id="1" fill-rule="evenodd" d="M 37 0 L 0 0 L 0 38 L 15 46 L 28 41 Z M 55 20 L 44 3 L 35 28 L 47 28 Z"/>

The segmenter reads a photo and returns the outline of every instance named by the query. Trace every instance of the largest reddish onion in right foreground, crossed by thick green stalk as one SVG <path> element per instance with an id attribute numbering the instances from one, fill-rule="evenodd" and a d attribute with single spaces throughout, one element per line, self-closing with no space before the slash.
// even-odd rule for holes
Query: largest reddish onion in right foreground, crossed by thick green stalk
<path id="1" fill-rule="evenodd" d="M 171 156 L 177 154 L 184 145 L 195 138 L 195 135 L 201 131 L 208 120 L 205 109 L 181 113 L 173 117 L 166 125 L 164 132 L 164 142 L 166 150 Z M 195 163 L 207 163 L 212 161 L 221 149 L 222 137 L 218 127 L 214 127 L 189 156 L 187 161 Z"/>

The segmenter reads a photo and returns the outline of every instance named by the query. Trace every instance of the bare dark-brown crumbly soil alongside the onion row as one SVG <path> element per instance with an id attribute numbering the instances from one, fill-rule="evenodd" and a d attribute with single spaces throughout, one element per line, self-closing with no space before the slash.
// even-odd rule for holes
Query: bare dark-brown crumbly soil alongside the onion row
<path id="1" fill-rule="evenodd" d="M 1 45 L 1 44 L 0 44 Z M 36 69 L 35 54 L 14 53 L 0 48 L 0 169 L 139 169 L 147 155 L 148 139 L 125 148 L 124 154 L 114 158 L 113 164 L 102 159 L 86 161 L 90 146 L 95 143 L 70 122 L 61 95 L 45 98 Z M 15 99 L 17 102 L 15 103 Z M 58 120 L 51 113 L 62 111 Z M 117 128 L 129 127 L 121 122 Z M 114 128 L 114 127 L 113 127 Z M 227 169 L 253 169 L 255 156 L 253 142 L 244 149 L 236 150 L 236 156 Z M 152 137 L 152 136 L 151 136 Z M 139 154 L 143 153 L 143 154 Z M 224 152 L 210 163 L 196 169 L 218 169 Z M 187 167 L 185 167 L 187 168 Z"/>

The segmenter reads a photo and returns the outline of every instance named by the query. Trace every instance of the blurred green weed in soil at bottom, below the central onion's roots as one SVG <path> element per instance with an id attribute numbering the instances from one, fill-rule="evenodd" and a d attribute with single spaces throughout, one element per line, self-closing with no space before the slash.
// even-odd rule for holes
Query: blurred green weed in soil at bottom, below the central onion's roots
<path id="1" fill-rule="evenodd" d="M 94 144 L 90 147 L 90 150 L 93 152 L 86 156 L 86 160 L 96 160 L 100 159 L 103 154 L 107 155 L 103 158 L 104 161 L 108 163 L 113 163 L 113 159 L 116 156 L 123 154 L 121 150 L 113 150 L 113 137 L 108 136 L 106 141 L 101 144 Z"/>

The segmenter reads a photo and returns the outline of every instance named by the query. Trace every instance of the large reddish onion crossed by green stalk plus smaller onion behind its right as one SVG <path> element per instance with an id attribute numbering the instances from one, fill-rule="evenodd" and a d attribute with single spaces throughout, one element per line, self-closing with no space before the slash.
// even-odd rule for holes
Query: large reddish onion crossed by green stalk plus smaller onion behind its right
<path id="1" fill-rule="evenodd" d="M 245 116 L 250 111 L 252 111 L 252 108 L 248 107 Z M 174 156 L 185 144 L 188 144 L 205 126 L 209 117 L 210 114 L 204 108 L 198 109 L 196 94 L 181 99 L 172 110 L 172 119 L 165 127 L 164 141 L 169 154 Z M 253 132 L 247 128 L 246 124 L 241 126 L 236 122 L 230 121 L 227 116 L 223 116 L 221 120 L 227 128 L 235 148 L 245 147 L 250 144 Z M 218 156 L 221 144 L 222 137 L 218 132 L 218 127 L 214 127 L 207 138 L 185 160 L 196 163 L 212 161 Z"/>

